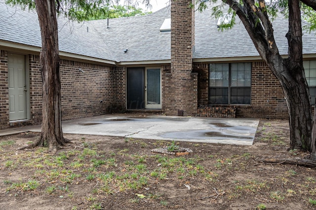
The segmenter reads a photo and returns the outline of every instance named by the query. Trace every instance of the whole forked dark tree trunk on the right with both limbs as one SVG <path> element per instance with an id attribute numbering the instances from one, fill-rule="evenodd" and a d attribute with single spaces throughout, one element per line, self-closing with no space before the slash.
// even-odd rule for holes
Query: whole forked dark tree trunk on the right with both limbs
<path id="1" fill-rule="evenodd" d="M 284 91 L 290 122 L 291 149 L 311 150 L 312 107 L 303 68 L 302 26 L 299 0 L 289 0 L 288 59 L 280 56 L 264 0 L 223 0 L 245 26 L 261 58 L 268 64 Z M 258 24 L 260 19 L 261 24 Z"/>

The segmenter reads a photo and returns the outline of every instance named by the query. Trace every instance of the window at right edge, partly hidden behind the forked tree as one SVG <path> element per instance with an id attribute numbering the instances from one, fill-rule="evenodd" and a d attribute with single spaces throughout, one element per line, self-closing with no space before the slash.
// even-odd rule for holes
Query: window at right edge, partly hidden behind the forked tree
<path id="1" fill-rule="evenodd" d="M 310 90 L 312 105 L 315 105 L 316 98 L 316 60 L 304 60 L 303 67 L 305 70 L 305 77 Z"/>

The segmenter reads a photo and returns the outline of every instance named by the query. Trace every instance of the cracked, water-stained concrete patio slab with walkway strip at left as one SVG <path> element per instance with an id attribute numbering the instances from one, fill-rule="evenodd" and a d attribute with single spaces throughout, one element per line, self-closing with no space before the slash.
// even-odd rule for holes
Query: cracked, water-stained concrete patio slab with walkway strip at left
<path id="1" fill-rule="evenodd" d="M 259 119 L 161 115 L 102 115 L 62 122 L 63 132 L 205 143 L 252 145 Z M 0 136 L 40 132 L 40 125 L 0 130 Z"/>

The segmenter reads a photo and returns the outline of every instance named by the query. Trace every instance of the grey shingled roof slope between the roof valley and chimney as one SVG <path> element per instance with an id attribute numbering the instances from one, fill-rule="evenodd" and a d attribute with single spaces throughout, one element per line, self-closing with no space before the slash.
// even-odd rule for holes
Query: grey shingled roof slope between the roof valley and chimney
<path id="1" fill-rule="evenodd" d="M 107 20 L 89 23 L 101 34 L 117 61 L 169 60 L 170 32 L 159 30 L 166 18 L 170 18 L 167 7 L 146 16 L 109 19 L 109 28 Z"/>

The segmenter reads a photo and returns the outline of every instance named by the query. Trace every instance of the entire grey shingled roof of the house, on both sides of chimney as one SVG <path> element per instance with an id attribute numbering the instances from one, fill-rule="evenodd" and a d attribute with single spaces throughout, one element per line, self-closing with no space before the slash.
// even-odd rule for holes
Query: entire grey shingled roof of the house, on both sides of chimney
<path id="1" fill-rule="evenodd" d="M 4 0 L 0 0 L 0 10 L 0 41 L 41 46 L 35 11 L 8 6 Z M 194 59 L 242 60 L 259 56 L 238 19 L 233 29 L 220 31 L 210 8 L 196 12 L 195 17 Z M 168 7 L 146 16 L 109 19 L 109 25 L 107 20 L 77 23 L 59 17 L 59 50 L 116 62 L 170 62 L 170 32 L 159 30 L 167 18 L 170 18 Z M 273 26 L 279 52 L 287 55 L 287 20 L 278 17 Z M 304 33 L 303 53 L 316 53 L 315 33 Z"/>

